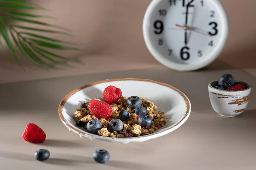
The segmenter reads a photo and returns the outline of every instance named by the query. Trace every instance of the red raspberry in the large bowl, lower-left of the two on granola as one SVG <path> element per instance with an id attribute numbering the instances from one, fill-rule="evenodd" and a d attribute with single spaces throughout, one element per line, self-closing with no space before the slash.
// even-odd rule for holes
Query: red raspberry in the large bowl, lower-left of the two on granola
<path id="1" fill-rule="evenodd" d="M 108 103 L 93 99 L 89 103 L 89 109 L 93 116 L 98 119 L 107 118 L 111 116 L 112 107 Z"/>

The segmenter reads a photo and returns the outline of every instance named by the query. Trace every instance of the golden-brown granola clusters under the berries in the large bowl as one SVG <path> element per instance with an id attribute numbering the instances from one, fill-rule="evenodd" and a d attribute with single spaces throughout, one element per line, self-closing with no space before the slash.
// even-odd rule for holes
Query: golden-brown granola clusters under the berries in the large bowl
<path id="1" fill-rule="evenodd" d="M 100 100 L 100 99 L 98 99 Z M 164 116 L 163 111 L 156 111 L 157 106 L 154 105 L 154 103 L 148 99 L 145 99 L 144 97 L 141 98 L 142 100 L 142 106 L 145 107 L 148 111 L 148 116 L 152 119 L 152 124 L 150 127 L 141 127 L 137 120 L 137 115 L 134 113 L 135 110 L 131 110 L 127 107 L 127 99 L 125 99 L 123 96 L 116 102 L 111 104 L 113 112 L 110 117 L 106 119 L 99 119 L 99 121 L 102 124 L 102 127 L 100 130 L 98 130 L 98 134 L 100 136 L 105 137 L 117 137 L 117 138 L 123 138 L 126 136 L 127 133 L 131 133 L 133 136 L 143 136 L 148 135 L 151 133 L 154 133 L 155 130 L 160 128 L 161 126 L 165 125 L 167 123 L 167 118 Z M 88 103 L 88 102 L 84 102 Z M 126 121 L 123 122 L 123 129 L 118 133 L 116 131 L 109 132 L 108 131 L 108 124 L 111 121 L 111 119 L 118 119 L 119 113 L 122 110 L 127 110 L 129 112 L 129 118 Z M 98 119 L 95 116 L 93 116 L 90 113 L 89 108 L 79 108 L 74 113 L 74 119 L 76 122 L 89 122 L 91 119 Z M 84 126 L 86 129 L 86 126 Z"/>

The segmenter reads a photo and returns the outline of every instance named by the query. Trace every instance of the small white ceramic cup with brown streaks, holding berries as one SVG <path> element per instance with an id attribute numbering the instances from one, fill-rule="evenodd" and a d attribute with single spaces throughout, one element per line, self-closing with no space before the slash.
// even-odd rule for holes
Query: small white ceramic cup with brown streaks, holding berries
<path id="1" fill-rule="evenodd" d="M 209 98 L 212 108 L 223 117 L 234 117 L 244 112 L 249 102 L 251 86 L 246 82 L 236 81 L 236 84 L 244 85 L 241 91 L 226 91 L 214 88 L 218 80 L 208 85 Z"/>

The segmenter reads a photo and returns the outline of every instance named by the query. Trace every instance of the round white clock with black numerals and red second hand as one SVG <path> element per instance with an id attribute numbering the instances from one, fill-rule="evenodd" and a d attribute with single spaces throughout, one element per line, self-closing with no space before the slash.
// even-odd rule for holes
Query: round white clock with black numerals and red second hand
<path id="1" fill-rule="evenodd" d="M 194 71 L 213 62 L 228 37 L 219 0 L 152 0 L 143 19 L 145 44 L 158 62 Z"/>

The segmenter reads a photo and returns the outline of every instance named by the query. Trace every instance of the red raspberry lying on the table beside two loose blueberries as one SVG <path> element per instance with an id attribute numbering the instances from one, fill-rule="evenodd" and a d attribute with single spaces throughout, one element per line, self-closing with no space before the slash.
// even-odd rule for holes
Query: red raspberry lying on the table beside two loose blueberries
<path id="1" fill-rule="evenodd" d="M 29 123 L 26 125 L 21 137 L 27 142 L 43 143 L 45 141 L 46 134 L 40 127 L 38 127 L 38 125 Z"/>

